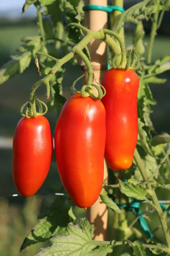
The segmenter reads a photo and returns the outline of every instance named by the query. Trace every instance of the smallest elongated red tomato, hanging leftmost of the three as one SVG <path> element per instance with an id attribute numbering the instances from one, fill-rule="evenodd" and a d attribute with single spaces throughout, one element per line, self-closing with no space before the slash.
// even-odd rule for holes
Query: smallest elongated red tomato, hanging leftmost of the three
<path id="1" fill-rule="evenodd" d="M 13 140 L 13 180 L 23 196 L 32 196 L 42 186 L 51 165 L 53 140 L 44 116 L 23 117 Z"/>

